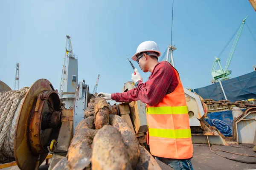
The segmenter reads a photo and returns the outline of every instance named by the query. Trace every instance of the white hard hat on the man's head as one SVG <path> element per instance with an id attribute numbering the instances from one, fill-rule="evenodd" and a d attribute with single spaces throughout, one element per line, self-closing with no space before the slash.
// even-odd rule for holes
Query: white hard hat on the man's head
<path id="1" fill-rule="evenodd" d="M 155 43 L 154 41 L 144 41 L 138 46 L 136 54 L 134 54 L 134 56 L 131 57 L 131 59 L 136 61 L 138 54 L 140 54 L 141 52 L 147 52 L 147 51 L 156 52 L 157 54 L 159 54 L 157 57 L 160 57 L 161 55 L 159 48 L 157 46 L 157 43 Z"/>

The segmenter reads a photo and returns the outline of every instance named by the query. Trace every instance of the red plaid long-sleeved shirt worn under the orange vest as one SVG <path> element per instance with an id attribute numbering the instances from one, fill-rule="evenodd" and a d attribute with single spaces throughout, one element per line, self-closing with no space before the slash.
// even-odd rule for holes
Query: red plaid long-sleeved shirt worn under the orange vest
<path id="1" fill-rule="evenodd" d="M 123 93 L 111 94 L 116 102 L 132 102 L 140 100 L 149 106 L 157 105 L 166 94 L 171 93 L 178 85 L 174 68 L 169 62 L 158 62 L 148 81 L 139 82 L 137 88 Z"/>

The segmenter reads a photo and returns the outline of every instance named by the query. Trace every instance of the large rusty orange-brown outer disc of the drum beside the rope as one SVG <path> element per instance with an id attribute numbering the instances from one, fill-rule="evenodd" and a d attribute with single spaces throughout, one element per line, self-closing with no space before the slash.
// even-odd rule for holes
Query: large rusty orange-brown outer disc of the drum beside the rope
<path id="1" fill-rule="evenodd" d="M 32 110 L 32 106 L 37 98 L 37 95 L 43 91 L 50 91 L 50 82 L 47 79 L 38 79 L 29 88 L 29 91 L 24 97 L 23 103 L 20 108 L 20 113 L 17 119 L 17 125 L 15 129 L 15 139 L 14 139 L 14 154 L 15 160 L 18 167 L 21 170 L 33 170 L 38 159 L 38 155 L 34 155 L 29 148 L 28 141 L 28 125 L 29 116 Z M 40 159 L 40 164 L 47 157 L 48 153 L 42 154 Z"/>

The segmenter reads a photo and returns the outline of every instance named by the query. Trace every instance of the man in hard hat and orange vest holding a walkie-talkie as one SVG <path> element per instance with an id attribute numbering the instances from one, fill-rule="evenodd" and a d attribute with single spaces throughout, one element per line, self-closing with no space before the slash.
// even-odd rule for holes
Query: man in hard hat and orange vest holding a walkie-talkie
<path id="1" fill-rule="evenodd" d="M 161 53 L 154 41 L 142 42 L 131 58 L 143 72 L 151 72 L 142 81 L 135 68 L 131 79 L 136 88 L 123 93 L 100 92 L 106 100 L 146 103 L 148 122 L 147 144 L 156 159 L 175 170 L 193 170 L 193 145 L 183 85 L 177 70 L 167 61 L 158 62 Z"/>

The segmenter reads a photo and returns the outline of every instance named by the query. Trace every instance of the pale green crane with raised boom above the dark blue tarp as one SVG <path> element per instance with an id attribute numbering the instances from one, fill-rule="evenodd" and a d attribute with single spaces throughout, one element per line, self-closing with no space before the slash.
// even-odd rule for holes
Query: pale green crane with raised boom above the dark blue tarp
<path id="1" fill-rule="evenodd" d="M 247 16 L 248 17 L 248 16 Z M 247 18 L 246 17 L 246 18 Z M 237 32 L 237 34 L 236 34 L 236 38 L 235 38 L 235 40 L 234 40 L 234 42 L 233 42 L 233 45 L 232 45 L 232 48 L 231 48 L 231 50 L 230 50 L 230 54 L 228 55 L 228 57 L 227 57 L 227 63 L 226 63 L 226 66 L 225 66 L 225 69 L 223 70 L 223 68 L 222 68 L 222 66 L 221 66 L 221 59 L 219 59 L 219 57 L 215 57 L 215 60 L 214 60 L 214 62 L 213 62 L 213 65 L 212 65 L 212 70 L 211 70 L 211 74 L 212 74 L 212 78 L 213 78 L 213 80 L 212 80 L 212 82 L 216 82 L 216 81 L 218 81 L 218 79 L 220 79 L 221 81 L 222 80 L 225 80 L 225 79 L 230 79 L 230 77 L 228 77 L 228 75 L 230 75 L 231 73 L 232 73 L 232 71 L 231 70 L 228 70 L 228 68 L 229 68 L 229 66 L 230 66 L 230 62 L 231 62 L 231 60 L 232 60 L 232 58 L 233 58 L 233 55 L 234 55 L 234 52 L 235 52 L 235 50 L 236 50 L 236 45 L 237 45 L 237 42 L 238 42 L 238 40 L 239 40 L 239 38 L 240 38 L 240 35 L 241 35 L 241 32 L 242 32 L 242 30 L 243 30 L 243 27 L 244 27 L 244 23 L 245 23 L 245 20 L 246 20 L 246 18 L 244 18 L 244 20 L 243 20 L 243 22 L 241 23 L 241 26 L 239 27 L 239 29 L 238 29 L 238 32 Z M 235 34 L 234 34 L 235 35 Z M 233 38 L 233 37 L 232 37 Z M 230 39 L 230 41 L 231 41 L 231 39 Z M 228 42 L 229 43 L 229 42 Z M 227 44 L 228 45 L 228 44 Z M 226 45 L 226 47 L 227 47 L 227 45 Z M 224 49 L 226 48 L 226 47 L 224 47 Z M 224 51 L 224 49 L 222 50 L 222 52 Z M 221 52 L 221 53 L 222 53 Z M 219 65 L 219 67 L 220 67 L 220 69 L 219 70 L 216 70 L 216 67 L 217 67 L 217 65 Z"/>

